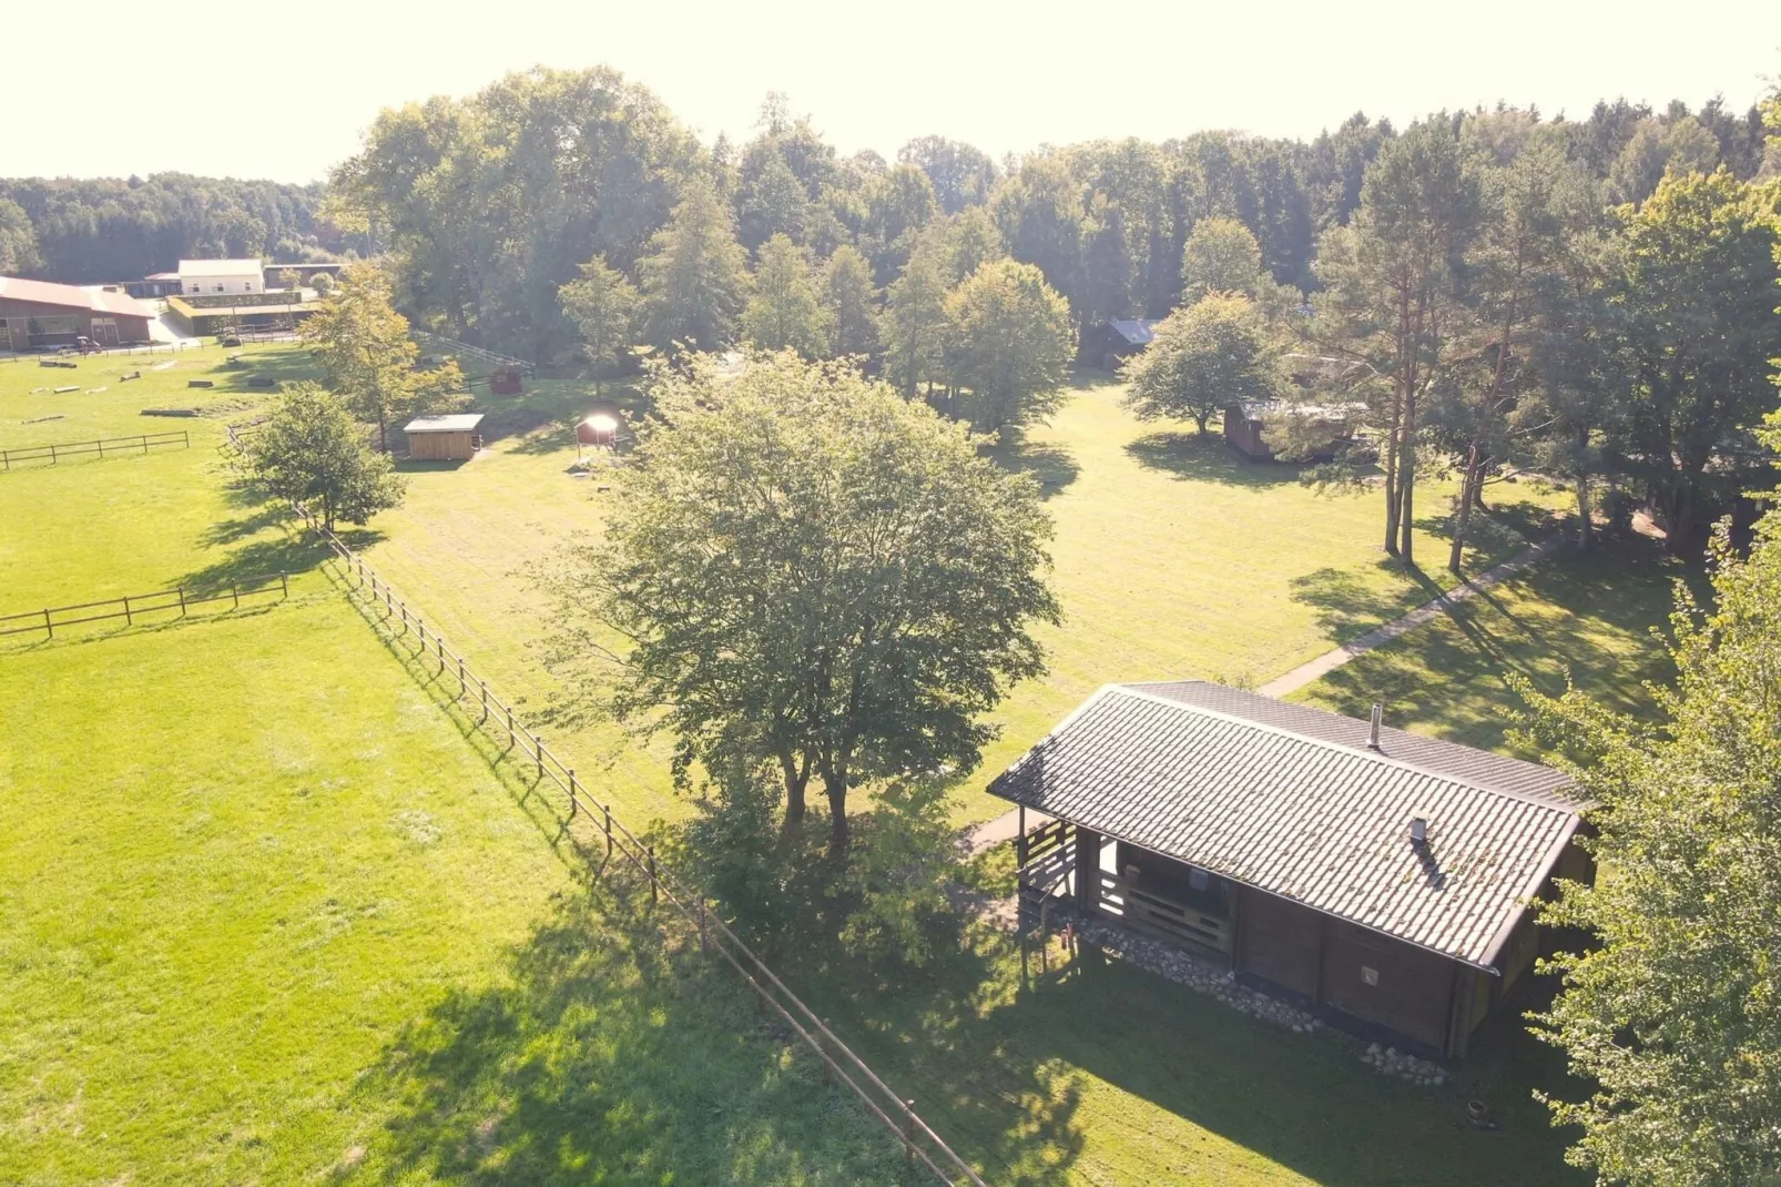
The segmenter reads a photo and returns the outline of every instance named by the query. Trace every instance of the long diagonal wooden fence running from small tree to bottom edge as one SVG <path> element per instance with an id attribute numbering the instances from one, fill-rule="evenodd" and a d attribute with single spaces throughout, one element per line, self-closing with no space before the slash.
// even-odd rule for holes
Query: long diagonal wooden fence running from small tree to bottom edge
<path id="1" fill-rule="evenodd" d="M 230 440 L 237 440 L 233 428 L 230 430 Z M 741 937 L 730 930 L 730 927 L 712 913 L 702 893 L 689 889 L 682 884 L 670 870 L 666 870 L 655 859 L 655 848 L 641 841 L 625 823 L 613 813 L 609 802 L 602 804 L 598 797 L 584 784 L 577 775 L 573 766 L 566 766 L 550 749 L 545 745 L 543 738 L 525 729 L 515 718 L 513 706 L 488 690 L 488 681 L 476 675 L 465 658 L 445 645 L 445 640 L 438 631 L 427 633 L 426 622 L 419 613 L 411 611 L 408 604 L 395 595 L 395 590 L 388 581 L 381 579 L 374 569 L 365 565 L 365 560 L 358 556 L 351 547 L 347 547 L 340 536 L 328 531 L 313 515 L 308 513 L 301 504 L 296 512 L 303 517 L 305 524 L 319 538 L 322 538 L 333 551 L 335 558 L 346 567 L 346 579 L 349 592 L 353 595 L 363 597 L 374 608 L 381 608 L 385 613 L 385 622 L 399 633 L 399 636 L 413 634 L 419 642 L 420 651 L 411 652 L 417 658 L 433 659 L 438 663 L 436 679 L 440 679 L 447 692 L 449 683 L 456 679 L 458 695 L 454 704 L 467 708 L 467 713 L 476 713 L 476 725 L 488 733 L 492 738 L 506 736 L 509 750 L 518 757 L 518 761 L 529 763 L 538 772 L 538 781 L 543 782 L 550 779 L 556 786 L 568 797 L 568 815 L 570 822 L 575 816 L 586 816 L 590 825 L 595 829 L 595 839 L 604 838 L 606 855 L 623 857 L 630 866 L 648 880 L 650 902 L 652 905 L 659 898 L 666 898 L 668 905 L 673 907 L 680 918 L 698 932 L 698 946 L 702 952 L 716 952 L 723 957 L 750 989 L 759 995 L 759 1000 L 773 1009 L 798 1036 L 798 1039 L 807 1046 L 823 1066 L 823 1082 L 834 1084 L 841 1080 L 855 1096 L 866 1105 L 867 1110 L 887 1128 L 892 1137 L 903 1144 L 905 1158 L 910 1164 L 921 1162 L 926 1166 L 940 1182 L 944 1183 L 972 1183 L 974 1187 L 987 1187 L 983 1178 L 967 1164 L 958 1153 L 953 1151 L 946 1141 L 940 1139 L 933 1128 L 921 1119 L 915 1112 L 915 1101 L 907 1096 L 899 1096 L 887 1085 L 878 1073 L 874 1073 L 864 1059 L 860 1059 L 853 1048 L 842 1043 L 835 1032 L 828 1027 L 823 1018 L 805 1005 L 798 995 L 794 995 L 784 980 L 773 973 L 771 968 L 753 954 Z"/>

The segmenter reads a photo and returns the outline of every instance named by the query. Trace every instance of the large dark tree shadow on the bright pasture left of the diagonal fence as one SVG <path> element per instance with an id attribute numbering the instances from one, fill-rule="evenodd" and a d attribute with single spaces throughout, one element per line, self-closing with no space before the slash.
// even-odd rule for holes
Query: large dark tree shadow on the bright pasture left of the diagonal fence
<path id="1" fill-rule="evenodd" d="M 358 1093 L 388 1119 L 337 1180 L 931 1182 L 716 955 L 663 936 L 666 909 L 591 896 L 386 1048 Z"/>

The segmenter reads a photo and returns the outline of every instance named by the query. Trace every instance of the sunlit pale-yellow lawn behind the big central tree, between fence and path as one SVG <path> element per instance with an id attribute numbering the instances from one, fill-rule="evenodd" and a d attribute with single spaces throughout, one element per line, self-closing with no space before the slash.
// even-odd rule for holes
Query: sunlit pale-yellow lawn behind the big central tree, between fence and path
<path id="1" fill-rule="evenodd" d="M 1110 681 L 1222 677 L 1265 683 L 1334 643 L 1430 597 L 1428 577 L 1386 563 L 1378 495 L 1320 497 L 1282 465 L 1240 460 L 1216 437 L 1140 424 L 1118 406 L 1120 387 L 1083 372 L 1065 408 L 1003 462 L 1035 474 L 1058 524 L 1053 547 L 1065 620 L 1040 638 L 1051 674 L 997 711 L 1003 740 L 960 786 L 962 818 L 1004 806 L 980 791 L 1090 692 Z M 588 385 L 543 380 L 518 399 L 483 397 L 490 451 L 463 465 L 410 471 L 406 504 L 376 520 L 369 558 L 534 711 L 561 683 L 538 640 L 554 608 L 524 574 L 575 533 L 598 533 L 611 495 L 577 478 L 566 426 L 590 403 Z M 1419 490 L 1418 545 L 1430 572 L 1446 560 L 1450 488 Z M 1562 495 L 1505 488 L 1484 520 L 1482 567 L 1537 536 Z M 1439 576 L 1446 577 L 1444 572 Z M 616 731 L 577 727 L 552 736 L 581 770 L 606 770 L 611 793 L 643 816 L 682 809 L 668 782 L 666 749 L 638 750 Z"/>

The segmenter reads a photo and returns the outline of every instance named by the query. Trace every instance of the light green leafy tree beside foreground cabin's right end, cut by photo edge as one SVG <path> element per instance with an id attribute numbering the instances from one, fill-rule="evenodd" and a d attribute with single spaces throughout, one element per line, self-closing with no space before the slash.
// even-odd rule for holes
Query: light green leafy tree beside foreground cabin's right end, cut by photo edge
<path id="1" fill-rule="evenodd" d="M 1583 1130 L 1573 1162 L 1633 1187 L 1781 1166 L 1781 517 L 1747 560 L 1720 536 L 1713 590 L 1704 615 L 1681 595 L 1660 722 L 1521 686 L 1601 804 L 1599 877 L 1542 911 L 1598 943 L 1548 962 L 1564 989 L 1537 1019 L 1592 1087 L 1548 1103 Z"/>

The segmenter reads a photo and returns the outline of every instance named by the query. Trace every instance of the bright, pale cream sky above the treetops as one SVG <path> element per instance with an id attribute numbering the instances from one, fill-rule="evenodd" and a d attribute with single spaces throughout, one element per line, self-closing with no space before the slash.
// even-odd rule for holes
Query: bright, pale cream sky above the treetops
<path id="1" fill-rule="evenodd" d="M 1724 93 L 1742 111 L 1781 73 L 1776 0 L 1699 20 L 1651 0 L 89 0 L 18 5 L 0 27 L 0 176 L 313 180 L 381 107 L 534 64 L 614 66 L 707 143 L 746 139 L 784 91 L 842 151 L 887 159 L 930 132 L 999 159 L 1200 128 L 1311 137 L 1354 111 L 1402 125 L 1498 100 L 1587 114 Z"/>

